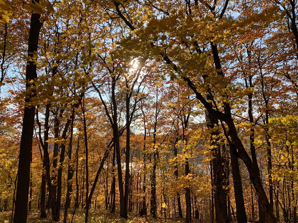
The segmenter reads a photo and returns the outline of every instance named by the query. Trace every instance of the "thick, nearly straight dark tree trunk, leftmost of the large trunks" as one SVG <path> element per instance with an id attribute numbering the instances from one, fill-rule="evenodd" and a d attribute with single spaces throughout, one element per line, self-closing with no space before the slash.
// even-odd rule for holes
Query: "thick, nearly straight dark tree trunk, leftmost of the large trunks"
<path id="1" fill-rule="evenodd" d="M 36 1 L 38 2 L 38 1 Z M 35 52 L 38 49 L 38 38 L 42 23 L 39 21 L 39 14 L 32 14 L 30 20 L 28 57 L 26 66 L 26 89 L 30 89 L 33 83 L 31 80 L 37 79 L 36 63 L 34 61 Z M 25 103 L 30 103 L 33 95 L 25 98 Z M 16 187 L 14 223 L 25 223 L 27 221 L 28 192 L 30 184 L 30 162 L 32 160 L 32 137 L 34 129 L 35 106 L 24 108 L 23 127 L 21 133 L 20 155 L 18 163 L 18 184 Z"/>

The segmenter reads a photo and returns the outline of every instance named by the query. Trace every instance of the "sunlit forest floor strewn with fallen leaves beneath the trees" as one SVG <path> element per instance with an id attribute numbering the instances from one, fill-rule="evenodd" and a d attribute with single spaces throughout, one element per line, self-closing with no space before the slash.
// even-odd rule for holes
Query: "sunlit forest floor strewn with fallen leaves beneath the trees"
<path id="1" fill-rule="evenodd" d="M 68 219 L 72 218 L 73 209 L 69 210 Z M 0 212 L 0 223 L 9 223 L 10 222 L 10 211 Z M 61 210 L 60 222 L 63 222 L 63 210 Z M 184 223 L 185 219 L 183 218 L 164 218 L 158 217 L 156 219 L 152 218 L 150 215 L 139 216 L 137 212 L 129 212 L 128 219 L 120 219 L 119 213 L 116 212 L 111 214 L 108 211 L 102 210 L 89 210 L 88 222 L 90 223 Z M 53 223 L 51 218 L 41 219 L 39 218 L 38 211 L 28 211 L 28 223 Z M 67 222 L 70 222 L 68 220 Z M 73 218 L 73 223 L 83 223 L 85 222 L 85 209 L 77 209 L 75 216 Z M 209 223 L 210 221 L 192 219 L 192 223 Z"/>

